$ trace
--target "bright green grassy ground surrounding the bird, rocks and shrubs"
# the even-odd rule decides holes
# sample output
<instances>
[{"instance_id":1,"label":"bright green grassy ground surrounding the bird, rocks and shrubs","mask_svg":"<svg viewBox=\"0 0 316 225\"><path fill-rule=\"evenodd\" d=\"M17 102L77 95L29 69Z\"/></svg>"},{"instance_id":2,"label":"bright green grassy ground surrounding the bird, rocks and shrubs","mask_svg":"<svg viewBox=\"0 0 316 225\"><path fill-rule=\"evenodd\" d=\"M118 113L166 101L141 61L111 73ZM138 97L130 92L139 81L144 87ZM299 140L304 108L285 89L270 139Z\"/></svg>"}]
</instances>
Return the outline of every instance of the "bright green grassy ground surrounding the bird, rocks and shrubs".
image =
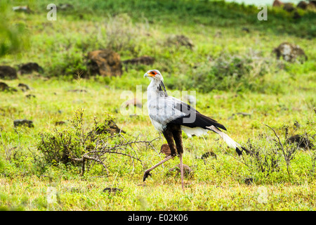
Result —
<instances>
[{"instance_id":1,"label":"bright green grassy ground surrounding the bird, rocks and shrubs","mask_svg":"<svg viewBox=\"0 0 316 225\"><path fill-rule=\"evenodd\" d=\"M303 16L296 21L290 13L269 8L268 21L259 22L256 7L235 4L73 1L73 9L48 21L45 1L21 4L29 4L34 13L9 12L8 18L27 27L29 46L1 58L1 65L37 62L44 72L3 81L31 89L0 93L1 210L315 210L315 149L297 149L287 167L280 149L273 155L276 137L264 125L275 129L282 143L288 127L289 134L306 133L315 145L315 13L300 11ZM171 34L190 37L194 48L167 45ZM301 46L308 60L303 64L275 60L271 51L282 41ZM86 70L86 53L103 48L119 52L122 60L143 55L156 60L150 67L129 65L121 77L73 79L78 70ZM163 157L143 145L135 148L141 163L131 165L124 156L105 162L109 176L97 165L81 176L81 167L41 160L39 134L67 130L70 122L62 126L55 122L69 120L79 108L84 108L85 127L92 126L93 117L102 119L110 113L126 131L126 139L157 138L145 113L129 116L120 110L126 101L122 93L136 94L137 85L145 91L149 81L143 74L152 68L162 72L170 94L179 89L196 91L197 110L224 124L239 143L258 147L268 159L265 172L251 156L238 158L215 134L205 139L184 135L184 163L194 172L185 178L185 192L180 176L168 172L178 159L155 169L143 184L145 169ZM212 77L214 68L228 79ZM74 89L86 92L70 91ZM36 98L25 98L27 94ZM144 105L145 98L143 93ZM24 118L33 120L34 127L13 127L13 120ZM162 143L164 139L152 142L157 150ZM204 162L200 158L209 150L217 157ZM268 173L276 159L279 167ZM122 191L103 192L107 187ZM48 200L50 188L53 203Z\"/></svg>"}]
</instances>

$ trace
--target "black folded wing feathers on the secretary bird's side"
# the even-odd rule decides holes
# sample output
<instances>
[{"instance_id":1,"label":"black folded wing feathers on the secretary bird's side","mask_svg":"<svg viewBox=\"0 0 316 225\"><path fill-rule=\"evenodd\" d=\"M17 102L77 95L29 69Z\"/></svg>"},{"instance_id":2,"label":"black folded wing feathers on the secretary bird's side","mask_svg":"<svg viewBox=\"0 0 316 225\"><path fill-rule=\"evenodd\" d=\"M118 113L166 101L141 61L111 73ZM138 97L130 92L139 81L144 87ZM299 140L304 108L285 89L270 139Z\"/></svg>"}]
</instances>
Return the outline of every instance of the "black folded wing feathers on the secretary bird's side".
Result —
<instances>
[{"instance_id":1,"label":"black folded wing feathers on the secretary bird's side","mask_svg":"<svg viewBox=\"0 0 316 225\"><path fill-rule=\"evenodd\" d=\"M195 110L195 108L187 105L186 103L182 102L176 104L176 109L185 113L185 116L178 117L176 120L172 120L171 123L173 124L180 124L186 127L202 127L203 129L208 129L207 127L213 125L218 129L226 130L223 124L218 123L216 120L213 120L210 117L206 117L206 115L199 113L197 110ZM192 113L195 113L195 120L193 122L186 122L184 119L191 117Z\"/></svg>"}]
</instances>

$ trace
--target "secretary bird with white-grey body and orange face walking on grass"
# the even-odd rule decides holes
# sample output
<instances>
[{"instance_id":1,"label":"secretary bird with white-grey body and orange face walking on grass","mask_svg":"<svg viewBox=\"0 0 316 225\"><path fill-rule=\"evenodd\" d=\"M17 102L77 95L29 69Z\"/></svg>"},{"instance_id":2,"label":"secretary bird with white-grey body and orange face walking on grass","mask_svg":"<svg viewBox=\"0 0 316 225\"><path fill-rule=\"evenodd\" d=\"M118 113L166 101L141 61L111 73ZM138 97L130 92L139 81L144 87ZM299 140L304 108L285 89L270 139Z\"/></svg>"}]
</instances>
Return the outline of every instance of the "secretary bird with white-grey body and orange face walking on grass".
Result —
<instances>
[{"instance_id":1,"label":"secretary bird with white-grey body and orange face walking on grass","mask_svg":"<svg viewBox=\"0 0 316 225\"><path fill-rule=\"evenodd\" d=\"M174 158L177 153L180 159L181 185L184 190L183 183L183 143L182 131L185 131L188 137L192 135L200 136L206 134L207 131L213 131L219 134L230 148L234 148L238 155L242 155L242 150L246 150L239 143L235 142L227 134L220 131L226 128L216 120L206 117L192 108L187 103L177 98L168 96L164 79L159 70L148 70L144 77L150 79L147 87L147 107L152 125L157 131L162 131L171 150L171 155L157 163L150 169L147 169L143 176L143 181L150 176L152 169L162 165L162 163ZM174 142L173 142L174 140ZM247 150L246 150L247 151Z\"/></svg>"}]
</instances>

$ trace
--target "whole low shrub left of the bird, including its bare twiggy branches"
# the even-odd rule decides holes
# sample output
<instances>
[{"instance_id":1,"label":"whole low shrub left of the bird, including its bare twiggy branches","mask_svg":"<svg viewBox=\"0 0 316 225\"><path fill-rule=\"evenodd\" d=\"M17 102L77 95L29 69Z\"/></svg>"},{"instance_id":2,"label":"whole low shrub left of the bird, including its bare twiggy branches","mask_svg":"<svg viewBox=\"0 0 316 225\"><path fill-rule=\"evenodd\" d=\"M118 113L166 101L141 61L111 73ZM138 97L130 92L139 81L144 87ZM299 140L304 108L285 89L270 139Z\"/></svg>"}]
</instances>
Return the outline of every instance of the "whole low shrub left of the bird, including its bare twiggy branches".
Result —
<instances>
[{"instance_id":1,"label":"whole low shrub left of the bird, including its bare twiggy branches","mask_svg":"<svg viewBox=\"0 0 316 225\"><path fill-rule=\"evenodd\" d=\"M151 146L151 141L125 139L122 135L125 132L117 127L114 118L110 115L105 115L103 122L94 118L93 126L86 129L84 110L77 110L70 124L65 129L55 129L52 133L40 134L41 139L37 143L37 149L43 153L46 164L81 166L81 174L84 174L86 168L97 174L105 170L108 175L109 168L112 171L118 169L116 165L122 160L119 157L122 157L127 160L119 162L119 165L126 167L119 167L117 172L130 173L129 168L133 167L134 170L135 162L141 162L133 145L143 143Z\"/></svg>"}]
</instances>

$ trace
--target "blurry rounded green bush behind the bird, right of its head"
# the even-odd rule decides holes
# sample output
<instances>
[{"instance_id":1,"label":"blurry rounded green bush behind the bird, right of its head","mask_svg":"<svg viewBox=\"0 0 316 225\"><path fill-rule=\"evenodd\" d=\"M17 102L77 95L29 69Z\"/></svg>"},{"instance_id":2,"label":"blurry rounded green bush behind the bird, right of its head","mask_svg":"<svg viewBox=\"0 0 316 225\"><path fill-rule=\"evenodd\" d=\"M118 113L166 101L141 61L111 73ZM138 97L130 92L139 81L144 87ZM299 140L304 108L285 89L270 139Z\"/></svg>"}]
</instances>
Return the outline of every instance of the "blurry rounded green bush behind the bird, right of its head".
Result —
<instances>
[{"instance_id":1,"label":"blurry rounded green bush behind the bird, right of its head","mask_svg":"<svg viewBox=\"0 0 316 225\"><path fill-rule=\"evenodd\" d=\"M268 72L265 60L240 56L221 56L213 62L204 62L192 70L192 75L182 76L173 84L176 89L197 89L209 92L213 89L258 91ZM178 85L177 85L178 84ZM168 84L167 84L168 85Z\"/></svg>"}]
</instances>

